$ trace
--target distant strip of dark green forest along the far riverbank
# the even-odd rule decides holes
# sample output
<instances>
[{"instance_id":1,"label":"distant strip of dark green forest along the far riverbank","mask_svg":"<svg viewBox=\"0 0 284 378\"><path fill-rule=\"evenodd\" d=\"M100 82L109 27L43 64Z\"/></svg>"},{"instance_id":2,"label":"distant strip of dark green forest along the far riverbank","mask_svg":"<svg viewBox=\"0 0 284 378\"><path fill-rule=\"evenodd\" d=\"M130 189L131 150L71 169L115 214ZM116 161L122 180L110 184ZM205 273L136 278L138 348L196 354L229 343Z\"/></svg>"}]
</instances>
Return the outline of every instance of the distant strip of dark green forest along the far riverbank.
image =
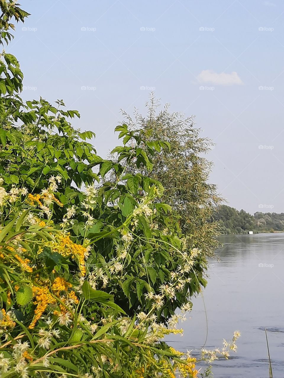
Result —
<instances>
[{"instance_id":1,"label":"distant strip of dark green forest along the far riverbank","mask_svg":"<svg viewBox=\"0 0 284 378\"><path fill-rule=\"evenodd\" d=\"M263 213L257 211L254 215L244 210L236 210L227 205L220 206L214 219L218 220L222 234L247 234L254 232L284 231L284 213Z\"/></svg>"}]
</instances>

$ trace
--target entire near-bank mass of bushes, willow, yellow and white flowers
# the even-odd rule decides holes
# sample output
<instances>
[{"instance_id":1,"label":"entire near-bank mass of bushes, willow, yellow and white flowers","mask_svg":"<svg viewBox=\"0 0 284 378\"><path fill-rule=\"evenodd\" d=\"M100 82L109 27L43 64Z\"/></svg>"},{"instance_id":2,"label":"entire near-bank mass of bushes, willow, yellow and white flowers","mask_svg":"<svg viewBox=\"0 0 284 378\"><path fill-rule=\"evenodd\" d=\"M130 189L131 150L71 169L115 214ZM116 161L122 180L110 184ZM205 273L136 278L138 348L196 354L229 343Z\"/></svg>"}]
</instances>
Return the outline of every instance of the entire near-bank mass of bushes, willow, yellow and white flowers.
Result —
<instances>
[{"instance_id":1,"label":"entire near-bank mass of bushes, willow, yellow and white flowers","mask_svg":"<svg viewBox=\"0 0 284 378\"><path fill-rule=\"evenodd\" d=\"M0 8L3 44L28 14ZM62 100L23 102L5 51L0 74L0 376L193 378L197 362L228 358L238 331L199 359L163 340L182 333L217 245L208 141L151 113L118 125L122 145L103 159Z\"/></svg>"}]
</instances>

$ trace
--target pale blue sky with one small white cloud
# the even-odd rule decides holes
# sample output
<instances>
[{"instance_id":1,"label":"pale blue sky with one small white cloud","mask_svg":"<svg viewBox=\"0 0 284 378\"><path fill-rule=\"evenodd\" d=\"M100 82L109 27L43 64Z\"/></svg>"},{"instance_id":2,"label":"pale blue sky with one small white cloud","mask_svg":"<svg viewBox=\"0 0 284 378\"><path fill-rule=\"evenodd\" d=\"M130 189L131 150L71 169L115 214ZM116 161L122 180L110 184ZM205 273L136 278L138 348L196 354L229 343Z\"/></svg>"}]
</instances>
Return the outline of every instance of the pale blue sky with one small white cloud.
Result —
<instances>
[{"instance_id":1,"label":"pale blue sky with one small white cloud","mask_svg":"<svg viewBox=\"0 0 284 378\"><path fill-rule=\"evenodd\" d=\"M6 51L20 62L24 99L64 99L106 156L120 109L145 114L153 90L216 144L210 182L230 206L284 212L284 2L21 4L31 16Z\"/></svg>"}]
</instances>

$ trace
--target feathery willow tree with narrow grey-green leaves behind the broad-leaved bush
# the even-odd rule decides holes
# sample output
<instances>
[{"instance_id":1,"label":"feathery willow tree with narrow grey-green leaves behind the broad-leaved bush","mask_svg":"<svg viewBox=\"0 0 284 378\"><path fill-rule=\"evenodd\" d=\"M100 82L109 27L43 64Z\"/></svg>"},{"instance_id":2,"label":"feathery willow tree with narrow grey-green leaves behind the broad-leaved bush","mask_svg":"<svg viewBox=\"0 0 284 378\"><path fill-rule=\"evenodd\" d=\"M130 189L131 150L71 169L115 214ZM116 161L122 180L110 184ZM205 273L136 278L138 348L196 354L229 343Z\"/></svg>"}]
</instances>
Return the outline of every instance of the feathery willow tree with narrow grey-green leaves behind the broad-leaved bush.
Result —
<instances>
[{"instance_id":1,"label":"feathery willow tree with narrow grey-green leaves behind the broad-leaved bush","mask_svg":"<svg viewBox=\"0 0 284 378\"><path fill-rule=\"evenodd\" d=\"M179 224L188 247L202 250L204 256L213 256L218 246L218 223L212 220L222 198L216 185L208 182L212 163L205 155L214 144L200 136L194 116L185 118L179 112L170 113L169 104L161 109L153 94L146 106L146 118L134 112L133 119L122 112L129 127L145 131L147 141L142 148L150 148L152 154L151 170L145 172L139 161L130 170L162 183L161 201L172 207L172 222ZM157 148L157 139L167 142L169 148Z\"/></svg>"}]
</instances>

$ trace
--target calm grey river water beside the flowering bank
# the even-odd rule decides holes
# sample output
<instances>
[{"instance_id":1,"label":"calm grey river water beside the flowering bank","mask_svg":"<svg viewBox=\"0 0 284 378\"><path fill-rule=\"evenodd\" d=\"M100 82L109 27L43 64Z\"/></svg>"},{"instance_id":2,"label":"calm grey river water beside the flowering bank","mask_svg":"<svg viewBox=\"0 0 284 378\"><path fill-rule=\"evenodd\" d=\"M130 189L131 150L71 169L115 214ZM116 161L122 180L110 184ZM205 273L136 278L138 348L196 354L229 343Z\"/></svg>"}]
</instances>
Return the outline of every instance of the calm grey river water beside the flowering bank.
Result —
<instances>
[{"instance_id":1,"label":"calm grey river water beside the flowering bank","mask_svg":"<svg viewBox=\"0 0 284 378\"><path fill-rule=\"evenodd\" d=\"M213 364L215 378L269 378L265 328L273 378L284 377L284 233L223 235L220 262L210 261L208 286L193 300L181 324L183 336L167 341L178 350L222 347L234 330L242 336L237 353ZM204 309L206 308L206 312Z\"/></svg>"}]
</instances>

